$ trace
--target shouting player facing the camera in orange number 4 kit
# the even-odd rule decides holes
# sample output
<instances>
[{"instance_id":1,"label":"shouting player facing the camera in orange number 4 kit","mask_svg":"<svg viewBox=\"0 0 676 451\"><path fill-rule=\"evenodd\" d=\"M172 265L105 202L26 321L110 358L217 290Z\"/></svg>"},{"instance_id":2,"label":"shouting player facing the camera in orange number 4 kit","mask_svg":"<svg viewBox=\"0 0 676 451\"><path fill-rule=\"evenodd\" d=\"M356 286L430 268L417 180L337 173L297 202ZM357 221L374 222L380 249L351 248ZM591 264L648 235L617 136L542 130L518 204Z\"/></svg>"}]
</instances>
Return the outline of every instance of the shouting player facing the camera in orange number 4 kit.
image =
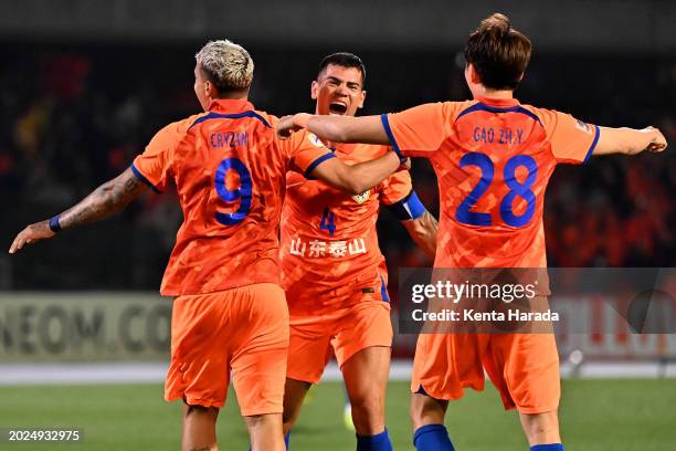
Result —
<instances>
[{"instance_id":1,"label":"shouting player facing the camera in orange number 4 kit","mask_svg":"<svg viewBox=\"0 0 676 451\"><path fill-rule=\"evenodd\" d=\"M316 114L353 116L366 98L365 81L358 56L326 56L310 87ZM348 164L389 151L387 146L325 144ZM392 325L376 221L385 206L433 259L436 220L418 199L405 169L358 196L298 172L286 180L281 223L282 282L291 314L285 434L335 352L352 406L357 449L391 450L384 397Z\"/></svg>"}]
</instances>

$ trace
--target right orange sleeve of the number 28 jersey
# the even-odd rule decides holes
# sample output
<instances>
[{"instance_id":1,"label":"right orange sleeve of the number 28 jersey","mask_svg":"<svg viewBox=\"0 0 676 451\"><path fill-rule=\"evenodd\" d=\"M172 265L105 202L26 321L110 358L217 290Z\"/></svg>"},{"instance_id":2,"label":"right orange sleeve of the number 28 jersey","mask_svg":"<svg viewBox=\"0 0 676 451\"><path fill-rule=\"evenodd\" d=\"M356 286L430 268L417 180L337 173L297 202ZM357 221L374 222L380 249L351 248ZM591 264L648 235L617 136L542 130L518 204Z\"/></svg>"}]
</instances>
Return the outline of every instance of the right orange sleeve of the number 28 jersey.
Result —
<instances>
[{"instance_id":1,"label":"right orange sleeve of the number 28 jersey","mask_svg":"<svg viewBox=\"0 0 676 451\"><path fill-rule=\"evenodd\" d=\"M573 165L587 162L599 143L599 126L557 111L540 109L539 113L557 161Z\"/></svg>"}]
</instances>

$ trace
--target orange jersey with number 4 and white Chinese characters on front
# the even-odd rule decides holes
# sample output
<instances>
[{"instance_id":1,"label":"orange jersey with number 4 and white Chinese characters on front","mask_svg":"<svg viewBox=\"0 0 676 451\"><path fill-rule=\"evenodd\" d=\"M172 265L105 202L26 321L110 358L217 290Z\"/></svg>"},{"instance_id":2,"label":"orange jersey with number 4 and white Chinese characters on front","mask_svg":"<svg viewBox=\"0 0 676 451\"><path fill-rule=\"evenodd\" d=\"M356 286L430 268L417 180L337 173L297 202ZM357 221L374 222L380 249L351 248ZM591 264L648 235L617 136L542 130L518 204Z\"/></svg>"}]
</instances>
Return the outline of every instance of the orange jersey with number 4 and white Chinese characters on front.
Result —
<instances>
[{"instance_id":1,"label":"orange jersey with number 4 and white Chinese characters on front","mask_svg":"<svg viewBox=\"0 0 676 451\"><path fill-rule=\"evenodd\" d=\"M385 146L338 144L346 164L384 155ZM380 204L392 206L412 195L411 176L398 170L359 196L289 172L282 211L282 277L292 311L353 302L365 290L388 300L387 269L378 245ZM413 193L414 195L414 193ZM346 301L346 298L348 301ZM303 304L303 305L300 305Z\"/></svg>"}]
</instances>

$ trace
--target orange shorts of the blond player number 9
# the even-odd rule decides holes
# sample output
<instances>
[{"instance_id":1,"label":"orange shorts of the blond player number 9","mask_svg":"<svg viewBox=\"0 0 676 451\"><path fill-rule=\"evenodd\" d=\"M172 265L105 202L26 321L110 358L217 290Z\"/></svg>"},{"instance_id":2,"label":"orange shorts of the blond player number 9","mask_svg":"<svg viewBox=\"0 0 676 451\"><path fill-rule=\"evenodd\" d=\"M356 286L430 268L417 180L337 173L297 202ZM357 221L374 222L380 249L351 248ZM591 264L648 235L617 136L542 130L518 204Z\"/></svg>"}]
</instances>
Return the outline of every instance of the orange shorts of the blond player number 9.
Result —
<instances>
[{"instance_id":1,"label":"orange shorts of the blond player number 9","mask_svg":"<svg viewBox=\"0 0 676 451\"><path fill-rule=\"evenodd\" d=\"M179 296L165 399L223 407L232 374L243 416L281 413L287 350L288 310L279 286Z\"/></svg>"}]
</instances>

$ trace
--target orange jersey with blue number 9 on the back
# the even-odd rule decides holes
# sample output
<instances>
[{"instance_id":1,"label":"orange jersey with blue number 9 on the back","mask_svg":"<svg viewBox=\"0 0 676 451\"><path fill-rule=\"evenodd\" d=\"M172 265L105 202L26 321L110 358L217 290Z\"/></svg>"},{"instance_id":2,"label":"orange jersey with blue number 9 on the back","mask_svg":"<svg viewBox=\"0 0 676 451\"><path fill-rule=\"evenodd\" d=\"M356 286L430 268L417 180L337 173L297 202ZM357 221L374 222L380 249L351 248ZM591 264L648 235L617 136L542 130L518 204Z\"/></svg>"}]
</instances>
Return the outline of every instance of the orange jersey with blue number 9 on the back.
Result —
<instances>
[{"instance_id":1,"label":"orange jersey with blue number 9 on the back","mask_svg":"<svg viewBox=\"0 0 676 451\"><path fill-rule=\"evenodd\" d=\"M161 285L163 295L279 284L278 227L288 170L332 158L306 133L276 137L276 117L245 99L169 124L131 169L154 190L176 181L183 223Z\"/></svg>"}]
</instances>

